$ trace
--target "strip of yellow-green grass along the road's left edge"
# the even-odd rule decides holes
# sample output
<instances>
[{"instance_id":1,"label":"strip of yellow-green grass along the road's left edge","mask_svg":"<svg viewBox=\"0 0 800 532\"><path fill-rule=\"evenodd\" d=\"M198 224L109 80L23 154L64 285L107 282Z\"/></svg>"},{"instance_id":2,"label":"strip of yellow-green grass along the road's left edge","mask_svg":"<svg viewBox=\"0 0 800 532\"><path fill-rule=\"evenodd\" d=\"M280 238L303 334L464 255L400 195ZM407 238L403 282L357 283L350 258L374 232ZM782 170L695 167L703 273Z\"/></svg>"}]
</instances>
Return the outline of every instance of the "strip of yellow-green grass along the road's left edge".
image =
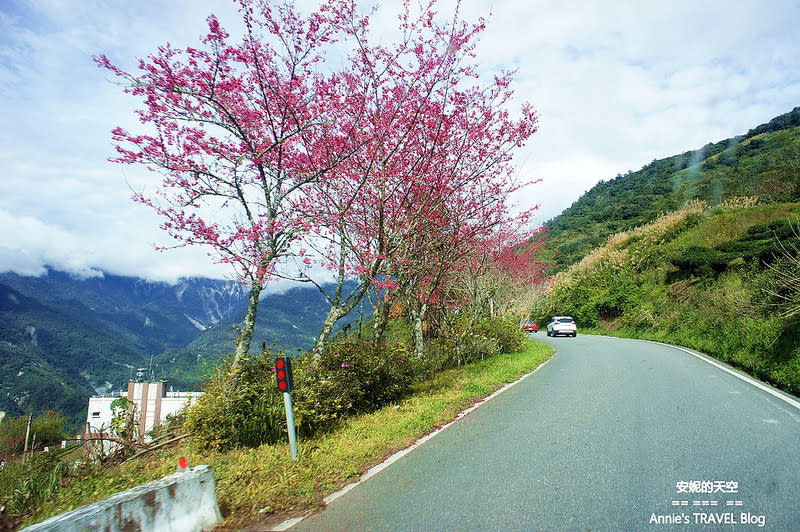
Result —
<instances>
[{"instance_id":1,"label":"strip of yellow-green grass along the road's left edge","mask_svg":"<svg viewBox=\"0 0 800 532\"><path fill-rule=\"evenodd\" d=\"M298 443L209 453L190 442L120 467L82 476L43 505L26 524L103 499L175 471L179 456L214 469L224 526L275 523L322 506L322 499L371 466L403 449L506 383L534 370L552 349L529 341L524 351L450 369L418 384L406 399L377 412L345 419L335 430Z\"/></svg>"}]
</instances>

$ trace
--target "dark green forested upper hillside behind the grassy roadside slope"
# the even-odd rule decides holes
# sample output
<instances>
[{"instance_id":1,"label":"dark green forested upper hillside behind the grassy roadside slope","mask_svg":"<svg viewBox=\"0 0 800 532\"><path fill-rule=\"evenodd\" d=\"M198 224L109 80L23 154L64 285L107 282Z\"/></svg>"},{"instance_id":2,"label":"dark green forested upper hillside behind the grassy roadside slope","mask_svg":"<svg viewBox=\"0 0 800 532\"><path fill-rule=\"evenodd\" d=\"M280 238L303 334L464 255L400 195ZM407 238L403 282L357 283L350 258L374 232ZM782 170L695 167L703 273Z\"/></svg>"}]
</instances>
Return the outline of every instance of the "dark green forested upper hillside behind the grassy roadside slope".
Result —
<instances>
[{"instance_id":1,"label":"dark green forested upper hillside behind the grassy roadside slope","mask_svg":"<svg viewBox=\"0 0 800 532\"><path fill-rule=\"evenodd\" d=\"M689 200L717 205L743 196L758 196L762 203L800 200L800 107L744 135L599 183L546 224L546 247L563 269L609 235L651 222Z\"/></svg>"}]
</instances>

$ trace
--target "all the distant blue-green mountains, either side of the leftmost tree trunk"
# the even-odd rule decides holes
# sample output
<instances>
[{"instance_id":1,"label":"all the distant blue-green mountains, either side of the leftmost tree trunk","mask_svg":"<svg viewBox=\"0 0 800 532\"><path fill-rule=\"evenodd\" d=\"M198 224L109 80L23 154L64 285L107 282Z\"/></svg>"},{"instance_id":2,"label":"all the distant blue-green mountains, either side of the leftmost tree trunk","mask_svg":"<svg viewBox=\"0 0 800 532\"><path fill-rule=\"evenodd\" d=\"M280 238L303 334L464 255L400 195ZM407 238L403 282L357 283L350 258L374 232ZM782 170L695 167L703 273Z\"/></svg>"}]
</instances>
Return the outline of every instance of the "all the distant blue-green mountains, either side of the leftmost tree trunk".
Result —
<instances>
[{"instance_id":1,"label":"all the distant blue-green mountains, either side of the leftmost tree trunk","mask_svg":"<svg viewBox=\"0 0 800 532\"><path fill-rule=\"evenodd\" d=\"M247 287L214 279L0 274L0 411L52 409L77 427L88 397L123 388L137 367L196 389L233 351L247 299ZM309 348L326 313L314 287L262 297L253 350Z\"/></svg>"}]
</instances>

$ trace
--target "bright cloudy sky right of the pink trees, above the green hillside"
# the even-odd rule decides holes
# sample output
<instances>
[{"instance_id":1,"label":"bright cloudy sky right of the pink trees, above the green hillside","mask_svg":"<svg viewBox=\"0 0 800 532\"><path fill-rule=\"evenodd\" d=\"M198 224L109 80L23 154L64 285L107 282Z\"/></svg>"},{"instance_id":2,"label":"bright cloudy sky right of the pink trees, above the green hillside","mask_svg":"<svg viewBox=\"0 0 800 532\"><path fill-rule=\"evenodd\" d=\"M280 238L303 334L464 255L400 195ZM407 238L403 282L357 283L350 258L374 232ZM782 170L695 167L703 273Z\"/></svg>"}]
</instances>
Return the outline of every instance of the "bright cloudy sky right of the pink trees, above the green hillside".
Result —
<instances>
[{"instance_id":1,"label":"bright cloudy sky right of the pink trees, above the green hillside","mask_svg":"<svg viewBox=\"0 0 800 532\"><path fill-rule=\"evenodd\" d=\"M800 103L796 3L505 5L495 4L480 53L489 68L511 60L519 97L540 113L524 160L544 180L530 202L547 215L600 179Z\"/></svg>"}]
</instances>

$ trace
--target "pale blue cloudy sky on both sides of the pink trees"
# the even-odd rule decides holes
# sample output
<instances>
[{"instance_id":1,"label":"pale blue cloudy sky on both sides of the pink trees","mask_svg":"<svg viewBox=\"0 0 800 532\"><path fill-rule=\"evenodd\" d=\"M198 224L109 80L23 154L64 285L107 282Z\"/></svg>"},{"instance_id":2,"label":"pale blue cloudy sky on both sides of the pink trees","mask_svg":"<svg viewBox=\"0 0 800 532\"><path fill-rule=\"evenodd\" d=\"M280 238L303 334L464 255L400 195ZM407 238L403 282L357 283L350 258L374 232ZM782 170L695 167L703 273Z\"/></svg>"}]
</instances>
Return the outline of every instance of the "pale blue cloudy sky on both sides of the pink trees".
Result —
<instances>
[{"instance_id":1,"label":"pale blue cloudy sky on both sides of the pink trees","mask_svg":"<svg viewBox=\"0 0 800 532\"><path fill-rule=\"evenodd\" d=\"M154 251L169 241L130 195L160 177L107 162L137 102L91 60L132 70L166 42L196 45L212 12L238 27L227 0L0 0L0 271L229 275L202 249ZM800 105L798 1L462 5L467 19L490 12L481 69L517 69L517 96L540 115L516 161L520 179L542 180L516 198L540 205L539 223L600 180ZM377 27L392 23L379 12Z\"/></svg>"}]
</instances>

